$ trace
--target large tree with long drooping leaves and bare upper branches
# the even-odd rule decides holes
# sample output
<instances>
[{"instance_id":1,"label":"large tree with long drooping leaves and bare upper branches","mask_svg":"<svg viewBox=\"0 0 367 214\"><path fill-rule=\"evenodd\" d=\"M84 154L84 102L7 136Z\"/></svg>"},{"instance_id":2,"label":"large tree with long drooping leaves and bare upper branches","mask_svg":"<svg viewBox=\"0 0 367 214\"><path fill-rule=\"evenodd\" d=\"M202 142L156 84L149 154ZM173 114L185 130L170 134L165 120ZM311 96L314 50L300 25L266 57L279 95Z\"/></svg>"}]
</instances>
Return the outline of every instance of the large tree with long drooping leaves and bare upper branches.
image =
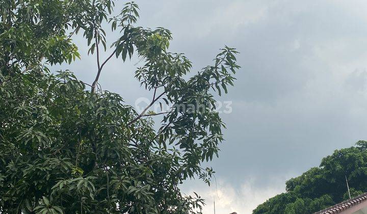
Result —
<instances>
[{"instance_id":1,"label":"large tree with long drooping leaves and bare upper branches","mask_svg":"<svg viewBox=\"0 0 367 214\"><path fill-rule=\"evenodd\" d=\"M213 93L233 85L238 52L226 46L213 65L186 77L192 64L168 51L171 33L136 26L134 2L117 16L114 5L0 1L0 212L200 212L204 200L183 195L179 184L195 177L209 183L215 173L201 167L218 156L223 141ZM106 23L120 32L111 48ZM72 42L78 32L96 56L90 85L48 67L79 58ZM102 50L111 53L107 59ZM141 113L98 87L112 57L125 61L134 52L144 60L135 77L153 94ZM148 112L159 102L172 108ZM158 130L154 116L162 119Z\"/></svg>"}]
</instances>

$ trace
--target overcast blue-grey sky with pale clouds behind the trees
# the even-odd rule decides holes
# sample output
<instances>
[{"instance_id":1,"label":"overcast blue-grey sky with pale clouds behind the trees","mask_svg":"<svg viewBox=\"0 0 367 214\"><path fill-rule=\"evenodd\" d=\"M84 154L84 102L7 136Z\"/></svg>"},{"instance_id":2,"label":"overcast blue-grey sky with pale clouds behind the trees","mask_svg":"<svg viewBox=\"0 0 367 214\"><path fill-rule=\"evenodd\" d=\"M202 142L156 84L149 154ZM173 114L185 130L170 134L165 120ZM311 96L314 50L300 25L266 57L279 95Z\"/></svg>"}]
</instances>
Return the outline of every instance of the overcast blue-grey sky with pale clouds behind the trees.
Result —
<instances>
[{"instance_id":1,"label":"overcast blue-grey sky with pale clouds behind the trees","mask_svg":"<svg viewBox=\"0 0 367 214\"><path fill-rule=\"evenodd\" d=\"M214 213L214 196L217 213L251 213L284 192L287 179L367 139L366 1L136 2L138 25L171 30L170 51L186 53L193 71L211 64L224 45L241 52L238 81L219 98L232 101L232 113L221 114L226 141L211 164L219 198L215 185L183 186L207 199L205 214ZM91 83L94 56L87 57L85 40L75 42L82 60L62 68ZM101 74L102 89L130 104L151 97L134 79L138 61L111 61Z\"/></svg>"}]
</instances>

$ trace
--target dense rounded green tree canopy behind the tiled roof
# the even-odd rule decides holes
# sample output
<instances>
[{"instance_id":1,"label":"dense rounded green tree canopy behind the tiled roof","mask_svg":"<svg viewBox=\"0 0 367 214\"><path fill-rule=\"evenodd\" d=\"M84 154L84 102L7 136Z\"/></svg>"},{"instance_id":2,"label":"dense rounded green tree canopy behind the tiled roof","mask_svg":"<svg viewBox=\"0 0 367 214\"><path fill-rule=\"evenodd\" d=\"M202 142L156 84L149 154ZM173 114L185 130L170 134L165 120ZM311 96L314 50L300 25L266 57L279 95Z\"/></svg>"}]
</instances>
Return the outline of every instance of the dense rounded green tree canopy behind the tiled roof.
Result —
<instances>
[{"instance_id":1,"label":"dense rounded green tree canopy behind the tiled roof","mask_svg":"<svg viewBox=\"0 0 367 214\"><path fill-rule=\"evenodd\" d=\"M367 141L335 150L301 176L286 181L286 193L257 206L253 213L313 213L367 192Z\"/></svg>"}]
</instances>

